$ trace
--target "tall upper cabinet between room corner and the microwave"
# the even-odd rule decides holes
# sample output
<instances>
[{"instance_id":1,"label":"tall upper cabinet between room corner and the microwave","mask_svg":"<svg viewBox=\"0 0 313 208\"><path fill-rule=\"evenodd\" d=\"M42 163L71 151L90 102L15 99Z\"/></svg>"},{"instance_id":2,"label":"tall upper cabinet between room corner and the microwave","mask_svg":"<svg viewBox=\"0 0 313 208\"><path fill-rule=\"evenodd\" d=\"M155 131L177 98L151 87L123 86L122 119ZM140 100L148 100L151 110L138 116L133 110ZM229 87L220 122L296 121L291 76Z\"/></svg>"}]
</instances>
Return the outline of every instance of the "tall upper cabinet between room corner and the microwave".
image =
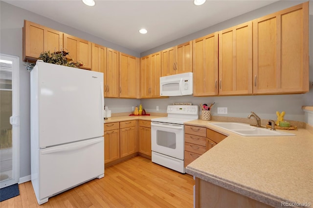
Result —
<instances>
[{"instance_id":1,"label":"tall upper cabinet between room corner and the microwave","mask_svg":"<svg viewBox=\"0 0 313 208\"><path fill-rule=\"evenodd\" d=\"M161 52L141 58L141 98L160 98Z\"/></svg>"}]
</instances>

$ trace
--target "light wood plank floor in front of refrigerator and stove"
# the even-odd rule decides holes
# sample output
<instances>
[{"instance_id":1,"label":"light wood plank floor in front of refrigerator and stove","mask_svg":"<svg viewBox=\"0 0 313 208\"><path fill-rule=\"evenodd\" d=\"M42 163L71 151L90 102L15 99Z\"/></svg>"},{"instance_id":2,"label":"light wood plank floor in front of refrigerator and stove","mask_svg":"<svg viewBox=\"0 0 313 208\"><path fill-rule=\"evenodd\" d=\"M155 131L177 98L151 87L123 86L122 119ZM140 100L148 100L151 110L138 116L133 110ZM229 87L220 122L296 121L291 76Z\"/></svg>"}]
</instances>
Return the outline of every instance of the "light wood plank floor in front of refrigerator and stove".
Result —
<instances>
[{"instance_id":1,"label":"light wood plank floor in front of refrigerator and stove","mask_svg":"<svg viewBox=\"0 0 313 208\"><path fill-rule=\"evenodd\" d=\"M192 208L193 177L137 156L105 168L105 177L49 198L39 206L31 182L0 208Z\"/></svg>"}]
</instances>

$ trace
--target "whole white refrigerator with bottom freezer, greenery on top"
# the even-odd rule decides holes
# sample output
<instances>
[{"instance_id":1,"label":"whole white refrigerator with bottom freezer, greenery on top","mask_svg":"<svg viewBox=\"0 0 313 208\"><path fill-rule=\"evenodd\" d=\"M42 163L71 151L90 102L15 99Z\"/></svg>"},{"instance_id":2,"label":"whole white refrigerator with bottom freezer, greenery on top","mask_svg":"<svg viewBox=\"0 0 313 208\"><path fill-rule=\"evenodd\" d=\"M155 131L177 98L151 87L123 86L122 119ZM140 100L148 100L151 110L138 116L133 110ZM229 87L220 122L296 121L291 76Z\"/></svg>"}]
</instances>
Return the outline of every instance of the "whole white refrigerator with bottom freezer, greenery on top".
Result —
<instances>
[{"instance_id":1,"label":"whole white refrigerator with bottom freezer, greenery on top","mask_svg":"<svg viewBox=\"0 0 313 208\"><path fill-rule=\"evenodd\" d=\"M31 182L41 205L104 176L103 73L40 60L30 78Z\"/></svg>"}]
</instances>

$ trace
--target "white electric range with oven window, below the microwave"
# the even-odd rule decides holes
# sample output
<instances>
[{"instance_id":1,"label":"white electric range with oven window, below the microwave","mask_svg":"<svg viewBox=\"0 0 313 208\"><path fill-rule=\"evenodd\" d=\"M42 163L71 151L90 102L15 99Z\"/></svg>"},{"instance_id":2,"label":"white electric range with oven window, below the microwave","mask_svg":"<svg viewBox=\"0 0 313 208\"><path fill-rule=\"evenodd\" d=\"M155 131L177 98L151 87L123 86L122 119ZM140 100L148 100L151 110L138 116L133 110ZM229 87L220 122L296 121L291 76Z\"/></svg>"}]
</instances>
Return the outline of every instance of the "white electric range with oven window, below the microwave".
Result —
<instances>
[{"instance_id":1,"label":"white electric range with oven window, below the microwave","mask_svg":"<svg viewBox=\"0 0 313 208\"><path fill-rule=\"evenodd\" d=\"M198 105L168 105L167 117L151 119L152 162L185 173L184 122L198 118Z\"/></svg>"}]
</instances>

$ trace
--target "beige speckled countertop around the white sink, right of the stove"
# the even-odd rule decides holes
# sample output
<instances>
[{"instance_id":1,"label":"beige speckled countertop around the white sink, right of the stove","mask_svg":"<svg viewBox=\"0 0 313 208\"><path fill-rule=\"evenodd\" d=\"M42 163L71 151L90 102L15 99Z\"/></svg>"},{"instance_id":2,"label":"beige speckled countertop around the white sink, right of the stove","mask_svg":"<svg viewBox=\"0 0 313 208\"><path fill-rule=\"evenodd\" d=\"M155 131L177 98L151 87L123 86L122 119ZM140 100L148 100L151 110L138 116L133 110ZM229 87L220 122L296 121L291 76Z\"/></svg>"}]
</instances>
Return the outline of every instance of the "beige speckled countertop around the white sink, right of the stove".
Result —
<instances>
[{"instance_id":1,"label":"beige speckled countertop around the white sink, right of the stove","mask_svg":"<svg viewBox=\"0 0 313 208\"><path fill-rule=\"evenodd\" d=\"M292 130L296 136L243 137L210 122L185 123L228 136L189 164L188 174L273 207L281 207L281 202L313 206L311 130Z\"/></svg>"}]
</instances>

